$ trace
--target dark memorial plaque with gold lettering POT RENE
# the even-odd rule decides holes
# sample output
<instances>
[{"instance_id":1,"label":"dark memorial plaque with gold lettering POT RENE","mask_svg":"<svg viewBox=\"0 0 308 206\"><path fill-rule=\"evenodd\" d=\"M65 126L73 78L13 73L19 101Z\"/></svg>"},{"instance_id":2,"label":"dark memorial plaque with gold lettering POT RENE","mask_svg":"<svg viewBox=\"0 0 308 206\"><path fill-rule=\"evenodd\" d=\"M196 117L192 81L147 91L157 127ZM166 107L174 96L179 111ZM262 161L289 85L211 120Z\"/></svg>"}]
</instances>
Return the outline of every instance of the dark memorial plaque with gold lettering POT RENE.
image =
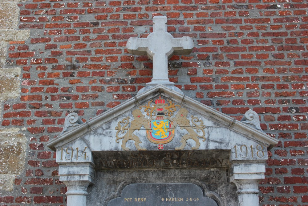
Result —
<instances>
[{"instance_id":1,"label":"dark memorial plaque with gold lettering POT RENE","mask_svg":"<svg viewBox=\"0 0 308 206\"><path fill-rule=\"evenodd\" d=\"M130 184L107 206L218 206L192 183Z\"/></svg>"}]
</instances>

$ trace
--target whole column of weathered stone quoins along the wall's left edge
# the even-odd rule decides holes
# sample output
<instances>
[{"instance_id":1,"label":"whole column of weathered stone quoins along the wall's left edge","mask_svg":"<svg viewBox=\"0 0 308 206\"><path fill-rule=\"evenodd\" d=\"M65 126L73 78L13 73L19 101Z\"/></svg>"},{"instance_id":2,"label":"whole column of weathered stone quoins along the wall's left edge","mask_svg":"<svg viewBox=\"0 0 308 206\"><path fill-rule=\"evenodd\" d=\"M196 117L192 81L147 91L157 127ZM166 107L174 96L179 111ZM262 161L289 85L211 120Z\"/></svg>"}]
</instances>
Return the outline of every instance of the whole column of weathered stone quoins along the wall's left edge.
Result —
<instances>
[{"instance_id":1,"label":"whole column of weathered stone quoins along the wall's left edge","mask_svg":"<svg viewBox=\"0 0 308 206\"><path fill-rule=\"evenodd\" d=\"M18 2L23 0L0 1L0 116L3 107L1 104L8 99L16 99L20 95L20 67L6 65L9 42L29 39L30 30L19 30ZM13 191L14 179L24 170L26 159L26 136L20 128L0 129L0 190Z\"/></svg>"}]
</instances>

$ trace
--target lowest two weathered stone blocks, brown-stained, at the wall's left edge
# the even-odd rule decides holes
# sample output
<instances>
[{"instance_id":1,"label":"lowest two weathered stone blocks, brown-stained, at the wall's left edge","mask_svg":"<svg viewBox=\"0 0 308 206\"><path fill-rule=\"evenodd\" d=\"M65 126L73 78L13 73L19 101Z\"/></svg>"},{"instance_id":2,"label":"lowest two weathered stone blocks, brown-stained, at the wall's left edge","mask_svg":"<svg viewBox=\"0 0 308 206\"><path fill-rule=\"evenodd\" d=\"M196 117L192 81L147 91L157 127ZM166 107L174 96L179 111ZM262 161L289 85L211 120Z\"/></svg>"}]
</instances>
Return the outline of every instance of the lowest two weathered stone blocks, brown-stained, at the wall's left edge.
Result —
<instances>
[{"instance_id":1,"label":"lowest two weathered stone blocks, brown-stained, at the wall's left edge","mask_svg":"<svg viewBox=\"0 0 308 206\"><path fill-rule=\"evenodd\" d=\"M25 135L17 129L1 129L0 157L0 190L12 191L15 177L24 170Z\"/></svg>"}]
</instances>

